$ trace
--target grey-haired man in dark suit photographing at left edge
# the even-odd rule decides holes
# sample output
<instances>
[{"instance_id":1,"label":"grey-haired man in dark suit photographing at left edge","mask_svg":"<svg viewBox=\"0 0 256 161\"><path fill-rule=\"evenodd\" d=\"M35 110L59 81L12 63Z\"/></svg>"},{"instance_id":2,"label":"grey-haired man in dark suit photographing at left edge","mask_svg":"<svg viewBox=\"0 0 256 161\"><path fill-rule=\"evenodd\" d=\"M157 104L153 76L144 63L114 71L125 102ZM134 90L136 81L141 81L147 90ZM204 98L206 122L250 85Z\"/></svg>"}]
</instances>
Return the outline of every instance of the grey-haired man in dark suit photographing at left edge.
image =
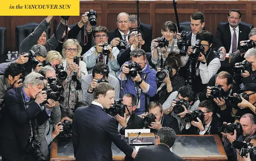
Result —
<instances>
[{"instance_id":1,"label":"grey-haired man in dark suit photographing at left edge","mask_svg":"<svg viewBox=\"0 0 256 161\"><path fill-rule=\"evenodd\" d=\"M5 105L0 120L0 155L3 161L37 161L32 147L32 142L38 137L35 126L45 123L51 113L39 105L47 100L46 92L42 91L45 86L47 81L44 77L31 72L23 86L10 89L3 97Z\"/></svg>"}]
</instances>

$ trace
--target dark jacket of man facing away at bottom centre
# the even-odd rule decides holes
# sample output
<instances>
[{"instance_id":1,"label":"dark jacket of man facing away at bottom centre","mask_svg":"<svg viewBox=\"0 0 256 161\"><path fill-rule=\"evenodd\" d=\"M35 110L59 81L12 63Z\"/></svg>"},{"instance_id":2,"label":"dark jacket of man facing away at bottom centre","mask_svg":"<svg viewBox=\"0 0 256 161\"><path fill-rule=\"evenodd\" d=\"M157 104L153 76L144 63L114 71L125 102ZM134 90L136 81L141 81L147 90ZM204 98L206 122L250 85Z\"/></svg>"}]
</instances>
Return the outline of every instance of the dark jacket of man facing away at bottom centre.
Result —
<instances>
[{"instance_id":1,"label":"dark jacket of man facing away at bottom centre","mask_svg":"<svg viewBox=\"0 0 256 161\"><path fill-rule=\"evenodd\" d=\"M134 161L185 161L183 158L170 151L165 144L141 147Z\"/></svg>"}]
</instances>

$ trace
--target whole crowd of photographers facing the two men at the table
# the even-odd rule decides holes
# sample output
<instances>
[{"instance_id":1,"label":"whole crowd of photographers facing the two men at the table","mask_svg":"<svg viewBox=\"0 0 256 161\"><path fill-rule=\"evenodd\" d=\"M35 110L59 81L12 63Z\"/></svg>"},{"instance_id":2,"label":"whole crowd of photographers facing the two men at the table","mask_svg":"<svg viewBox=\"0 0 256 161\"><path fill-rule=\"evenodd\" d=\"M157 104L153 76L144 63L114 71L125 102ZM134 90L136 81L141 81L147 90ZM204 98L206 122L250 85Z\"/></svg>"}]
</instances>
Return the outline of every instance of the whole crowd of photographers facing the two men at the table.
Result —
<instances>
[{"instance_id":1,"label":"whole crowd of photographers facing the two men at the table","mask_svg":"<svg viewBox=\"0 0 256 161\"><path fill-rule=\"evenodd\" d=\"M166 21L162 37L153 40L135 15L118 14L118 28L110 32L97 26L93 10L69 32L68 17L62 18L47 40L52 16L46 17L22 41L17 58L0 64L3 161L49 160L53 139L72 137L73 113L96 99L101 82L114 87L115 101L106 112L120 134L142 128L157 134L162 127L176 134L219 134L228 160L255 160L256 28L247 33L249 40L237 42L239 10L228 13L230 41L238 44L235 52L229 44L233 73L219 71L227 55L225 43L219 44L225 34L220 28L215 37L203 31L201 12L190 16L192 31L179 33ZM75 39L80 30L87 43Z\"/></svg>"}]
</instances>

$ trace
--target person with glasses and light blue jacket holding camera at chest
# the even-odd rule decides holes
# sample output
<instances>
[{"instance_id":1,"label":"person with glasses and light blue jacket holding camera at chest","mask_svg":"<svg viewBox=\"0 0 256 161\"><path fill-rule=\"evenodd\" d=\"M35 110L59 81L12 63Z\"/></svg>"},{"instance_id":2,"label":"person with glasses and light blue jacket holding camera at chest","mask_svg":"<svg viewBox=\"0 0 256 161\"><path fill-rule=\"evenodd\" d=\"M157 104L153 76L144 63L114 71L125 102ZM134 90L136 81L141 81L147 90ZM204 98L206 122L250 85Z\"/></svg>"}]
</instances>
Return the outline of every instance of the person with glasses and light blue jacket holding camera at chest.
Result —
<instances>
[{"instance_id":1,"label":"person with glasses and light blue jacket holding camera at chest","mask_svg":"<svg viewBox=\"0 0 256 161\"><path fill-rule=\"evenodd\" d=\"M107 42L108 39L108 30L104 26L98 26L93 30L93 37L94 41L96 43L96 46L93 46L90 48L89 51L87 51L83 55L83 61L86 62L87 68L92 68L94 65L96 65L98 62L104 62L109 66L110 74L117 77L118 70L120 69L120 66L117 61L117 56L119 53L119 50L117 47L111 48L111 46L107 46L107 49L109 50L109 55L106 56L103 53L103 44ZM88 72L91 72L89 70Z\"/></svg>"}]
</instances>

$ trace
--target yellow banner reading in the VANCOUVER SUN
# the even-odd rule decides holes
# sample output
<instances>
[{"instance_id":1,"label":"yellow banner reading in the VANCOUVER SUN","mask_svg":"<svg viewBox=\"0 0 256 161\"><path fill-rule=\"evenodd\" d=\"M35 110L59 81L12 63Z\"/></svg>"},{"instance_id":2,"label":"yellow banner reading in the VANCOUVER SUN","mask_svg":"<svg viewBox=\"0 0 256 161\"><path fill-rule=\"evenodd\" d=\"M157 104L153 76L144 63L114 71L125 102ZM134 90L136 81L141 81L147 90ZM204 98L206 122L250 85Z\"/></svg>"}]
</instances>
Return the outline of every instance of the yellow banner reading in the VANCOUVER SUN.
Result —
<instances>
[{"instance_id":1,"label":"yellow banner reading in the VANCOUVER SUN","mask_svg":"<svg viewBox=\"0 0 256 161\"><path fill-rule=\"evenodd\" d=\"M0 16L79 16L79 0L0 0Z\"/></svg>"}]
</instances>

